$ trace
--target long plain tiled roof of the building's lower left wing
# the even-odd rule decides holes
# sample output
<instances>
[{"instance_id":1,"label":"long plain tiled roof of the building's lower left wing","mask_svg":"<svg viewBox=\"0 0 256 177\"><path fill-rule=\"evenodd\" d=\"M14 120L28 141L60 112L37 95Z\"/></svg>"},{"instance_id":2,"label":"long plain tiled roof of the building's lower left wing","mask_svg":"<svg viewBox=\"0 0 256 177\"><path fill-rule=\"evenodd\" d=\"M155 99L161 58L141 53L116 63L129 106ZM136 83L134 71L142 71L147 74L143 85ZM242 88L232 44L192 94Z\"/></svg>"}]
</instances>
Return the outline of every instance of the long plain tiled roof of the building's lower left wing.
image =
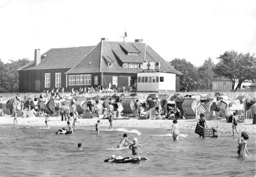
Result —
<instances>
[{"instance_id":1,"label":"long plain tiled roof of the building's lower left wing","mask_svg":"<svg viewBox=\"0 0 256 177\"><path fill-rule=\"evenodd\" d=\"M94 46L50 49L41 55L41 62L38 65L32 61L19 71L72 68L93 48Z\"/></svg>"}]
</instances>

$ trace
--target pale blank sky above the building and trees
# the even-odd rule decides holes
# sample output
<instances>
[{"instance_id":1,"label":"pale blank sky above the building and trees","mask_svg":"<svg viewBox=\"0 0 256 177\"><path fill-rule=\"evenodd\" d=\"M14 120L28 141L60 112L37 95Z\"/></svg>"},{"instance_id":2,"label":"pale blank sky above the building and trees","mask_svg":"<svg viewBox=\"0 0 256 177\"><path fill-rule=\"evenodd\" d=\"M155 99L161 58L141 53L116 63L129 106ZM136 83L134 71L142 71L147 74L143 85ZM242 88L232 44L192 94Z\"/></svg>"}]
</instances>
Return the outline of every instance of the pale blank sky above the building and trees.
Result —
<instances>
[{"instance_id":1,"label":"pale blank sky above the building and trees","mask_svg":"<svg viewBox=\"0 0 256 177\"><path fill-rule=\"evenodd\" d=\"M225 51L256 53L256 1L0 0L0 58L143 39L170 61L199 66Z\"/></svg>"}]
</instances>

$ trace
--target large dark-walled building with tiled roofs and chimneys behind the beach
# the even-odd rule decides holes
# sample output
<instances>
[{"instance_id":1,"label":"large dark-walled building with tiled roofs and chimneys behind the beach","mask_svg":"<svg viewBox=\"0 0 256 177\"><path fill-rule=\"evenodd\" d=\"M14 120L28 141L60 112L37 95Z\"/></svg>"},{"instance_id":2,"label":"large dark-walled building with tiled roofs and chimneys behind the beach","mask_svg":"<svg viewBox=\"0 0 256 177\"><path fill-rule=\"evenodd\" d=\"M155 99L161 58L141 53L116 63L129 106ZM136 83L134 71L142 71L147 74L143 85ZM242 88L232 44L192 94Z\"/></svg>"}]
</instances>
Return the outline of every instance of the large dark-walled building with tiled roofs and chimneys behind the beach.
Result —
<instances>
[{"instance_id":1,"label":"large dark-walled building with tiled roofs and chimneys behind the beach","mask_svg":"<svg viewBox=\"0 0 256 177\"><path fill-rule=\"evenodd\" d=\"M179 85L181 73L142 39L116 42L102 38L96 46L50 49L41 56L35 50L35 60L18 70L19 91L132 86L137 83L137 73L143 71L145 62L159 63L162 72L176 74Z\"/></svg>"}]
</instances>

